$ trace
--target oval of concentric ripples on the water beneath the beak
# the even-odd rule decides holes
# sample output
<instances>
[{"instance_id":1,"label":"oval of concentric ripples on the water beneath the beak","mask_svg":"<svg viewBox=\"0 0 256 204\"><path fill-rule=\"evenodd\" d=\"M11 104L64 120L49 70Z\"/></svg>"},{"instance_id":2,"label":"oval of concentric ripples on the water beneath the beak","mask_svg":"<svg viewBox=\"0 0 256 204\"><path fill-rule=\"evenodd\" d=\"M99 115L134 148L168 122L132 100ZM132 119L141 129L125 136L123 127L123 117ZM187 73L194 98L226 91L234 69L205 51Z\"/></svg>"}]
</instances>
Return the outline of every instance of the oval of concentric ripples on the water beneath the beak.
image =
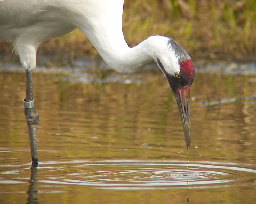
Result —
<instances>
[{"instance_id":1,"label":"oval of concentric ripples on the water beneath the beak","mask_svg":"<svg viewBox=\"0 0 256 204\"><path fill-rule=\"evenodd\" d=\"M59 167L62 173L66 170ZM73 169L74 172L70 172ZM52 171L52 170L51 170ZM254 180L254 181L253 181ZM256 180L256 170L239 164L187 164L141 161L101 161L68 167L63 178L48 177L43 183L95 186L111 189L155 189L168 186L216 186L248 184Z\"/></svg>"}]
</instances>

